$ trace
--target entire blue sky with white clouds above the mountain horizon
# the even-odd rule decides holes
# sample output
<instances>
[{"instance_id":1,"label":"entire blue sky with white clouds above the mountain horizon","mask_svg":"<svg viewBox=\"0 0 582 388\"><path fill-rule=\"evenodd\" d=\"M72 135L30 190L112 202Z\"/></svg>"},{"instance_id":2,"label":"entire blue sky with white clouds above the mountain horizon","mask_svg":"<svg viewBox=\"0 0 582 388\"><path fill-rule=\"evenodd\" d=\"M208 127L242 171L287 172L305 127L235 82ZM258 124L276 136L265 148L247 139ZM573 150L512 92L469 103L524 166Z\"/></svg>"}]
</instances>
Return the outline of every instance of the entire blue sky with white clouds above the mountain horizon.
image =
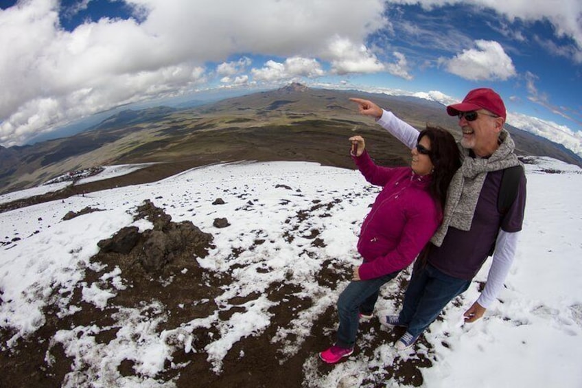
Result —
<instances>
[{"instance_id":1,"label":"entire blue sky with white clouds above the mountain horizon","mask_svg":"<svg viewBox=\"0 0 582 388\"><path fill-rule=\"evenodd\" d=\"M0 1L0 144L121 104L296 81L444 104L492 87L509 124L582 155L579 0L248 4Z\"/></svg>"}]
</instances>

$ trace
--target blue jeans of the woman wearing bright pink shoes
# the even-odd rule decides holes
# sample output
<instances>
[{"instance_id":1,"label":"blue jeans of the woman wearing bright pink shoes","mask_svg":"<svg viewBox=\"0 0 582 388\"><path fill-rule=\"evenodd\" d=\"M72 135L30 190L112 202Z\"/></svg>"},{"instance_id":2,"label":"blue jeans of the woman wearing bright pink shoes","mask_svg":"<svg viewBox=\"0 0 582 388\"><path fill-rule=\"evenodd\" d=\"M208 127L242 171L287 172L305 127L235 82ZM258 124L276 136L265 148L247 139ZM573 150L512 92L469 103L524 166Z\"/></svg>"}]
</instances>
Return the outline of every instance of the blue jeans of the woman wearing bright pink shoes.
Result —
<instances>
[{"instance_id":1,"label":"blue jeans of the woman wearing bright pink shoes","mask_svg":"<svg viewBox=\"0 0 582 388\"><path fill-rule=\"evenodd\" d=\"M340 327L338 328L337 346L351 348L356 344L360 312L371 314L374 311L380 287L394 279L399 272L388 273L388 275L375 279L358 280L347 285L338 298Z\"/></svg>"}]
</instances>

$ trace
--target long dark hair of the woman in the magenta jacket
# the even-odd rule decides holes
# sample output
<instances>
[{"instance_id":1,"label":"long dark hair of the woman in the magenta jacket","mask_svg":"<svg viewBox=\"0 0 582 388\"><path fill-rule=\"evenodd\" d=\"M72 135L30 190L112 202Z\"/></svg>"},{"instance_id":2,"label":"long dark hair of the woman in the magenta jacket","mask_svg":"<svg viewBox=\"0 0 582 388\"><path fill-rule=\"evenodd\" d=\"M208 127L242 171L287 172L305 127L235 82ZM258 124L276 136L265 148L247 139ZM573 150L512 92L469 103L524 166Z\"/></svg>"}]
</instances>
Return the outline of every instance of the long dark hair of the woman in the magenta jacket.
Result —
<instances>
[{"instance_id":1,"label":"long dark hair of the woman in the magenta jacket","mask_svg":"<svg viewBox=\"0 0 582 388\"><path fill-rule=\"evenodd\" d=\"M461 167L461 159L456 141L448 130L437 126L427 126L419 133L418 141L425 136L430 140L428 156L434 166L428 191L441 207L442 212L445 209L449 184L456 170Z\"/></svg>"}]
</instances>

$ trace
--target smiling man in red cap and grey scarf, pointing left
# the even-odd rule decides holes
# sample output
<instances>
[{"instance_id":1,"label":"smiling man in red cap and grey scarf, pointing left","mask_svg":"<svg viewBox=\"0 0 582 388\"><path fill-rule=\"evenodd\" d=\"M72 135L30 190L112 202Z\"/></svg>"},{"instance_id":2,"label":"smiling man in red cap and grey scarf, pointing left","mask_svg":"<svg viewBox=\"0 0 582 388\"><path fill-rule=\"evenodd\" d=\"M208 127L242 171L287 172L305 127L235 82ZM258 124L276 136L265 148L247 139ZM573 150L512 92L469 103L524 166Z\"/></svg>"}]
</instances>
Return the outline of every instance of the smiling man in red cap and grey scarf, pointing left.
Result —
<instances>
[{"instance_id":1,"label":"smiling man in red cap and grey scarf, pointing left","mask_svg":"<svg viewBox=\"0 0 582 388\"><path fill-rule=\"evenodd\" d=\"M373 102L351 100L359 105L360 113L375 117L408 148L415 146L415 128ZM399 315L380 312L384 326L407 328L396 343L399 349L412 346L449 301L469 288L494 246L485 288L464 315L466 322L480 319L503 286L522 229L523 170L513 205L505 214L497 207L503 170L520 165L513 140L503 129L507 113L502 99L491 89L474 89L463 102L447 106L447 113L458 116L463 139L458 144L462 166L447 192L443 224L428 244L426 260L417 260Z\"/></svg>"}]
</instances>

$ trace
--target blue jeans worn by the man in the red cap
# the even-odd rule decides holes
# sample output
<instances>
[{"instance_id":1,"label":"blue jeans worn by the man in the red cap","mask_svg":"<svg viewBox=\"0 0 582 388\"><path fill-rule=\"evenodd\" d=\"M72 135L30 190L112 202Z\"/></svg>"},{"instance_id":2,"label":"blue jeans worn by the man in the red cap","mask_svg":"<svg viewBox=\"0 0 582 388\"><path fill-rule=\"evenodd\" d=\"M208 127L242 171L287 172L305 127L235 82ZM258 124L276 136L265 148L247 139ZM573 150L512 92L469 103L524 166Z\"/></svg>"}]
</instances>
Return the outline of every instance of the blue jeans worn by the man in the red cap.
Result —
<instances>
[{"instance_id":1,"label":"blue jeans worn by the man in the red cap","mask_svg":"<svg viewBox=\"0 0 582 388\"><path fill-rule=\"evenodd\" d=\"M458 279L426 264L415 267L398 318L413 336L421 334L454 297L464 293L470 280Z\"/></svg>"}]
</instances>

